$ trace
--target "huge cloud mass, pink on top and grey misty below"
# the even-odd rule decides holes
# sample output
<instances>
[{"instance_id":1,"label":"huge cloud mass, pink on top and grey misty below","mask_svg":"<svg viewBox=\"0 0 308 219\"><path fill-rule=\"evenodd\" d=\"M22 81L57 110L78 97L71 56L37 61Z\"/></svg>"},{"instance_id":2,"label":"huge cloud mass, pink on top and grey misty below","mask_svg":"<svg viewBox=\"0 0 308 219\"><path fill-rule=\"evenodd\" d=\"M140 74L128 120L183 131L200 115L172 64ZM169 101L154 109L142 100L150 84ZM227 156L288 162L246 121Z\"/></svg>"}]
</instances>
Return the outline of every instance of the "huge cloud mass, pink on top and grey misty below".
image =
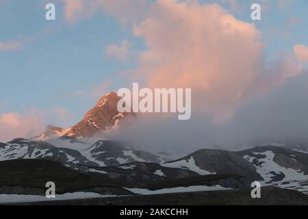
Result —
<instances>
[{"instance_id":1,"label":"huge cloud mass, pink on top and grey misty below","mask_svg":"<svg viewBox=\"0 0 308 219\"><path fill-rule=\"evenodd\" d=\"M109 138L189 152L308 136L303 47L267 60L253 23L239 21L220 5L197 1L153 3L133 34L147 49L132 81L151 88L192 88L192 119L141 116Z\"/></svg>"}]
</instances>

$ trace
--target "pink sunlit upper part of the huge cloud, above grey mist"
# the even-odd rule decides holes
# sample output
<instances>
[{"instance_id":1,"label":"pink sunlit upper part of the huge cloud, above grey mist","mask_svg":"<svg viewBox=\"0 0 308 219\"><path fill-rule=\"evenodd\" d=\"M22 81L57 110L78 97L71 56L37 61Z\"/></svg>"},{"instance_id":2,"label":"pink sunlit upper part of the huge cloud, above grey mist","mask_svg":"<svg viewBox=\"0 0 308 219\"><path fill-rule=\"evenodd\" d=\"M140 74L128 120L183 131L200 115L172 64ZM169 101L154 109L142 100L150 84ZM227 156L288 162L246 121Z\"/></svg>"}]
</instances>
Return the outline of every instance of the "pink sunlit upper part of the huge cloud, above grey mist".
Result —
<instances>
[{"instance_id":1,"label":"pink sunlit upper part of the huge cloud, above grey mist","mask_svg":"<svg viewBox=\"0 0 308 219\"><path fill-rule=\"evenodd\" d=\"M218 123L242 101L298 73L292 60L267 69L259 30L217 4L157 1L134 34L148 47L136 79L151 88L192 88L194 107Z\"/></svg>"}]
</instances>

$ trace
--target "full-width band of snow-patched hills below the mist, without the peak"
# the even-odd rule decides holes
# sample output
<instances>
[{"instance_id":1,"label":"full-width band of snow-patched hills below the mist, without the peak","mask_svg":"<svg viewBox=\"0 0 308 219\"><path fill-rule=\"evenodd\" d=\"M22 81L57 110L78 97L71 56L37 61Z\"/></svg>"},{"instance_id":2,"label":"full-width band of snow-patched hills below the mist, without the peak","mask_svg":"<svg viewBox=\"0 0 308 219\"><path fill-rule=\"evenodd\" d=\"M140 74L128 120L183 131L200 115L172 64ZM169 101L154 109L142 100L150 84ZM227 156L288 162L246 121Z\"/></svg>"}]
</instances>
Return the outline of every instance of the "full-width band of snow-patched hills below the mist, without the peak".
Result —
<instances>
[{"instance_id":1,"label":"full-width band of snow-patched hills below the mist, without the peak","mask_svg":"<svg viewBox=\"0 0 308 219\"><path fill-rule=\"evenodd\" d=\"M227 174L244 177L246 184L257 180L263 185L308 194L308 154L281 146L259 146L238 152L203 149L162 162L161 156L133 149L124 142L69 136L47 141L18 138L0 143L0 162L11 159L52 159L73 170L131 185Z\"/></svg>"}]
</instances>

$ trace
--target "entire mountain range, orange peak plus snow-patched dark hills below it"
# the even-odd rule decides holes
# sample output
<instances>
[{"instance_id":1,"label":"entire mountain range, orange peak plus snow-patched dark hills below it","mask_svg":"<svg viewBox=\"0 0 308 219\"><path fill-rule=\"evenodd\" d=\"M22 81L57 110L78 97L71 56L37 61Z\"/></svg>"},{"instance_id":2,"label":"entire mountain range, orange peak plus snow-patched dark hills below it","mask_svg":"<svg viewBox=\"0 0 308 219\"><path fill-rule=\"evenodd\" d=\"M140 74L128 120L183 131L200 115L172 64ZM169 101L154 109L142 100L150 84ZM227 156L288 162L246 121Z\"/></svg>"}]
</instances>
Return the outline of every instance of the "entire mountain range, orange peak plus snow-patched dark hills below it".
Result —
<instances>
[{"instance_id":1,"label":"entire mountain range, orange peak plus snow-patched dark hills below it","mask_svg":"<svg viewBox=\"0 0 308 219\"><path fill-rule=\"evenodd\" d=\"M201 149L181 158L142 151L97 135L136 116L118 112L119 100L113 92L106 94L68 129L50 126L34 138L0 142L0 196L42 196L45 181L60 183L63 194L243 191L253 181L308 194L306 144L266 144L243 151Z\"/></svg>"}]
</instances>

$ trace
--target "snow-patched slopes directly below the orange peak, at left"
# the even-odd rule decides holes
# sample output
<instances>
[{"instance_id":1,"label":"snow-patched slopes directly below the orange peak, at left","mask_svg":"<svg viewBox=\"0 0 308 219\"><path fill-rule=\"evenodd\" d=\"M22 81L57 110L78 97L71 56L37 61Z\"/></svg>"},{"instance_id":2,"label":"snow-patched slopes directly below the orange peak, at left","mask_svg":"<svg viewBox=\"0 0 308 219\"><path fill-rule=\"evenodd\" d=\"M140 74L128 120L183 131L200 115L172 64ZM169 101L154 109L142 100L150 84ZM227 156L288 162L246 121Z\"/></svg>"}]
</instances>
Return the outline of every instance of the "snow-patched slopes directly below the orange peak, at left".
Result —
<instances>
[{"instance_id":1,"label":"snow-patched slopes directly below the orange peak, at left","mask_svg":"<svg viewBox=\"0 0 308 219\"><path fill-rule=\"evenodd\" d=\"M0 144L0 161L9 159L53 159L68 166L116 166L127 162L160 163L158 155L133 150L124 143L99 140L78 140L64 137L35 141L22 138Z\"/></svg>"}]
</instances>

